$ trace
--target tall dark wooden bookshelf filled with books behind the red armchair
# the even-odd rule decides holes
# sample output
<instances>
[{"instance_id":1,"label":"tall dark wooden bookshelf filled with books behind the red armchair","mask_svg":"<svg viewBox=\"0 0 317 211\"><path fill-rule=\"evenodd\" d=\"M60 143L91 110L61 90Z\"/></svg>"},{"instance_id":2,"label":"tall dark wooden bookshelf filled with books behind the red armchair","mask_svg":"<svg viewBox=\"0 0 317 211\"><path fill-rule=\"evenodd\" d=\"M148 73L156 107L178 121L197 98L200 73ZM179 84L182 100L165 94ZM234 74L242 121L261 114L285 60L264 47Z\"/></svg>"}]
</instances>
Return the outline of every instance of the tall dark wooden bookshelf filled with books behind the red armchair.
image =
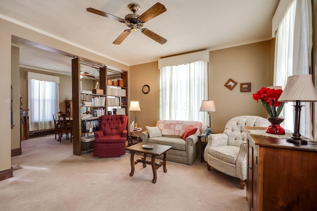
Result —
<instances>
[{"instance_id":1,"label":"tall dark wooden bookshelf filled with books behind the red armchair","mask_svg":"<svg viewBox=\"0 0 317 211\"><path fill-rule=\"evenodd\" d=\"M128 73L125 71L113 71L106 66L99 68L100 89L104 90L103 94L87 93L81 90L80 83L80 58L72 59L72 113L73 113L73 154L81 155L83 151L89 150L89 143L84 135L97 131L96 125L99 126L99 117L108 115L108 111L113 114L113 109L118 109L122 114L128 115ZM107 85L107 80L121 78L123 86ZM121 93L111 90L121 90ZM118 91L120 92L120 91ZM124 96L121 96L124 95ZM90 103L91 101L91 103ZM109 104L110 103L110 104ZM83 110L87 108L94 116L92 119L82 119ZM90 108L90 109L88 109ZM94 111L96 113L94 113ZM85 128L86 127L86 130ZM88 130L87 128L93 128ZM95 128L95 129L94 129ZM86 136L87 137L87 136ZM83 139L83 140L82 140ZM93 146L93 144L92 144Z\"/></svg>"}]
</instances>

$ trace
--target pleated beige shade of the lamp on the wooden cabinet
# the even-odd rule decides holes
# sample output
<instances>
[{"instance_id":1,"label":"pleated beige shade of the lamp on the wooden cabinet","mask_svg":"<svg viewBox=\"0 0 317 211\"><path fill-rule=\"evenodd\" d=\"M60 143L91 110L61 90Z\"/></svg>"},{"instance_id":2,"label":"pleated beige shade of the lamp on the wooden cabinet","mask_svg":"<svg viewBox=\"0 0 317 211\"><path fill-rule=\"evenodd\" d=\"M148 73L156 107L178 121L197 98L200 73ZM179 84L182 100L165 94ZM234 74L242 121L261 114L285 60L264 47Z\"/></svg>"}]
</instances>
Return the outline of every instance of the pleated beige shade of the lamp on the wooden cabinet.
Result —
<instances>
[{"instance_id":1,"label":"pleated beige shade of the lamp on the wooden cabinet","mask_svg":"<svg viewBox=\"0 0 317 211\"><path fill-rule=\"evenodd\" d=\"M284 91L278 98L280 102L312 102L317 101L317 92L313 84L313 76L294 75L287 78Z\"/></svg>"}]
</instances>

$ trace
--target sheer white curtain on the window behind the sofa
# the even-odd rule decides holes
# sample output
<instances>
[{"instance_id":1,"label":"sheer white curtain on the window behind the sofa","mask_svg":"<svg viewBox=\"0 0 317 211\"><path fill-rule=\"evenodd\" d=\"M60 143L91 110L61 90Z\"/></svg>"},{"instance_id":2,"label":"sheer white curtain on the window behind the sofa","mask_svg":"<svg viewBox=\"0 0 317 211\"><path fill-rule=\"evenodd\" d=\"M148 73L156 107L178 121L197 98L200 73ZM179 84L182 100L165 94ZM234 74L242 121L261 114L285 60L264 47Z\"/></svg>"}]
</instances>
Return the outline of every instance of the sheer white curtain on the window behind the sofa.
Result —
<instances>
[{"instance_id":1,"label":"sheer white curtain on the window behind the sofa","mask_svg":"<svg viewBox=\"0 0 317 211\"><path fill-rule=\"evenodd\" d=\"M209 126L207 112L200 112L208 99L208 62L160 68L160 120L200 121Z\"/></svg>"}]
</instances>

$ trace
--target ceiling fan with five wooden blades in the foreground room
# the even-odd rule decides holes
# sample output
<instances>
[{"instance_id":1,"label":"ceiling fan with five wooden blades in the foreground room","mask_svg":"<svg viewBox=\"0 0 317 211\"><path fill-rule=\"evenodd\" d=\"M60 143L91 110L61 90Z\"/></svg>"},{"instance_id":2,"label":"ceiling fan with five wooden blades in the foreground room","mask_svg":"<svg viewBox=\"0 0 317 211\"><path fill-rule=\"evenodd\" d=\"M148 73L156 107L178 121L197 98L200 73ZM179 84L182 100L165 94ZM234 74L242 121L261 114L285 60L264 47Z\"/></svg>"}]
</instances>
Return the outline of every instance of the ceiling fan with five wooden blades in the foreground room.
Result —
<instances>
[{"instance_id":1,"label":"ceiling fan with five wooden blades in the foreground room","mask_svg":"<svg viewBox=\"0 0 317 211\"><path fill-rule=\"evenodd\" d=\"M124 30L115 41L113 41L113 44L121 44L121 42L124 41L124 39L130 34L130 32L136 32L138 29L141 30L142 34L148 36L149 38L155 40L156 42L159 42L160 44L164 44L167 42L166 39L162 38L161 36L157 35L156 33L152 32L149 29L143 28L143 24L152 18L155 18L156 16L160 15L161 13L166 11L166 8L161 3L154 4L150 9L145 11L142 15L138 15L137 13L140 11L141 7L136 3L130 3L128 5L129 10L132 12L131 14L127 14L124 19L116 17L114 15L108 14L106 12L94 9L94 8L87 8L88 12L92 12L101 16L105 16L107 18L111 18L113 20L119 21L121 23L124 23L127 25L130 29Z\"/></svg>"}]
</instances>

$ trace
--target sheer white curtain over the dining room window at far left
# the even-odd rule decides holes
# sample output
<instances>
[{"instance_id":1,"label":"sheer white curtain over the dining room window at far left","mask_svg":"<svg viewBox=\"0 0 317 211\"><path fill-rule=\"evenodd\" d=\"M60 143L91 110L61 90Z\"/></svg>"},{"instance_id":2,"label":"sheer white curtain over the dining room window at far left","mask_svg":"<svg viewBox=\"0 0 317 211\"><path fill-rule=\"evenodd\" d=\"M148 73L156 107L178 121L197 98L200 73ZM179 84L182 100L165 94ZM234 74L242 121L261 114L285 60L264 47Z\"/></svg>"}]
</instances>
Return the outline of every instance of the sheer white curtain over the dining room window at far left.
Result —
<instances>
[{"instance_id":1,"label":"sheer white curtain over the dining room window at far left","mask_svg":"<svg viewBox=\"0 0 317 211\"><path fill-rule=\"evenodd\" d=\"M53 114L59 111L58 83L28 80L30 130L54 128Z\"/></svg>"}]
</instances>

